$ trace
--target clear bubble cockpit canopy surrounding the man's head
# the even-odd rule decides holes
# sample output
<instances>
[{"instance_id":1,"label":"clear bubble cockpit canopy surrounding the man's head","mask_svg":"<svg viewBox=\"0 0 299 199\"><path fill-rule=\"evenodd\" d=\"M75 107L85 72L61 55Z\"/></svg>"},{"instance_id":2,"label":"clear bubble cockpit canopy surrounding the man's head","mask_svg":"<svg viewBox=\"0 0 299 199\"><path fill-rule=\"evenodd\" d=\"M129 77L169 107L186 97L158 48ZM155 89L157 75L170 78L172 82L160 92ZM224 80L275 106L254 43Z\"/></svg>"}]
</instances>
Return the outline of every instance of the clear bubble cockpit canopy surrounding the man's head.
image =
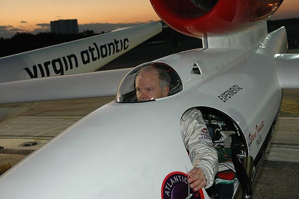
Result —
<instances>
[{"instance_id":1,"label":"clear bubble cockpit canopy surrounding the man's head","mask_svg":"<svg viewBox=\"0 0 299 199\"><path fill-rule=\"evenodd\" d=\"M137 101L137 95L136 95L136 88L135 88L135 78L137 75L137 72L146 66L155 66L155 67L161 67L164 71L167 71L170 76L170 88L168 92L168 96L174 95L178 92L180 92L183 89L182 82L176 71L170 67L169 65L161 62L149 62L145 64L141 64L134 69L132 69L122 80L122 82L119 85L117 95L116 95L116 102L118 103L136 103ZM154 99L149 100L154 101ZM144 102L144 101L143 101Z\"/></svg>"}]
</instances>

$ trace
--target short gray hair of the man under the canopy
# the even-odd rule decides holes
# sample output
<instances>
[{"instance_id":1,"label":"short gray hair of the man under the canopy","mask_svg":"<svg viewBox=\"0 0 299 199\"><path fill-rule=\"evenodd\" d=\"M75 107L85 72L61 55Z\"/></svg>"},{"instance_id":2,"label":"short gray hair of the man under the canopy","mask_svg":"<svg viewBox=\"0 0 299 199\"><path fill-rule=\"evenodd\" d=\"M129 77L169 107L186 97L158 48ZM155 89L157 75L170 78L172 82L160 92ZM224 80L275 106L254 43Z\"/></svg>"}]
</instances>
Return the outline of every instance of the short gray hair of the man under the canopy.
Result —
<instances>
[{"instance_id":1,"label":"short gray hair of the man under the canopy","mask_svg":"<svg viewBox=\"0 0 299 199\"><path fill-rule=\"evenodd\" d=\"M170 79L169 72L167 70L165 70L164 68L155 66L155 65L149 65L149 66L145 66L145 67L139 69L137 72L137 75L135 77L135 81L140 73L148 72L151 69L155 69L157 72L160 88L164 89L166 86L168 86L170 88L171 79Z\"/></svg>"}]
</instances>

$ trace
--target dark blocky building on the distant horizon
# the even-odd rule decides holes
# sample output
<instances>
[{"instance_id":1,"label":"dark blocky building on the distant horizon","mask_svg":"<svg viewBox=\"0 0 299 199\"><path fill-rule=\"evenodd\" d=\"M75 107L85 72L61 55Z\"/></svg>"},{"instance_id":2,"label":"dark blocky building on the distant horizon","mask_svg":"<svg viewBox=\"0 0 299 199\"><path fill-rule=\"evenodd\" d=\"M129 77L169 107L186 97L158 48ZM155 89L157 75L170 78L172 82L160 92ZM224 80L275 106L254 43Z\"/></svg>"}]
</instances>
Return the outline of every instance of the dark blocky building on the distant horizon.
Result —
<instances>
[{"instance_id":1,"label":"dark blocky building on the distant horizon","mask_svg":"<svg viewBox=\"0 0 299 199\"><path fill-rule=\"evenodd\" d=\"M51 21L51 32L61 34L78 34L78 21L77 19Z\"/></svg>"}]
</instances>

